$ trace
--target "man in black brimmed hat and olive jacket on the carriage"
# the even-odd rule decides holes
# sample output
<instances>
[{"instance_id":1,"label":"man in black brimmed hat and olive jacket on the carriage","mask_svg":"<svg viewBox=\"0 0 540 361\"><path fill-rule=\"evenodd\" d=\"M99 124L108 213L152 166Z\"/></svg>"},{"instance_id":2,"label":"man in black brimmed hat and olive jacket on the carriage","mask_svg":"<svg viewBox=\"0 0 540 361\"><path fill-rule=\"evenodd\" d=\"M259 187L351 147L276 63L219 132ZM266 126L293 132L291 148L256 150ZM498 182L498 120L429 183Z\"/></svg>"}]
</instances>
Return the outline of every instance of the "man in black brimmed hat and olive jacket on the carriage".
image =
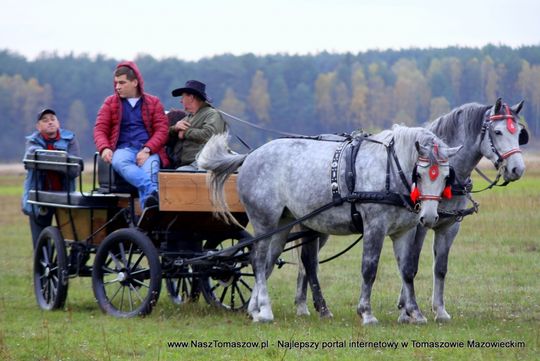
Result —
<instances>
[{"instance_id":1,"label":"man in black brimmed hat and olive jacket on the carriage","mask_svg":"<svg viewBox=\"0 0 540 361\"><path fill-rule=\"evenodd\" d=\"M171 152L172 166L178 170L198 170L197 154L214 134L225 131L225 121L210 104L206 85L188 80L183 88L172 91L188 113L184 119L169 127L169 138L176 142Z\"/></svg>"}]
</instances>

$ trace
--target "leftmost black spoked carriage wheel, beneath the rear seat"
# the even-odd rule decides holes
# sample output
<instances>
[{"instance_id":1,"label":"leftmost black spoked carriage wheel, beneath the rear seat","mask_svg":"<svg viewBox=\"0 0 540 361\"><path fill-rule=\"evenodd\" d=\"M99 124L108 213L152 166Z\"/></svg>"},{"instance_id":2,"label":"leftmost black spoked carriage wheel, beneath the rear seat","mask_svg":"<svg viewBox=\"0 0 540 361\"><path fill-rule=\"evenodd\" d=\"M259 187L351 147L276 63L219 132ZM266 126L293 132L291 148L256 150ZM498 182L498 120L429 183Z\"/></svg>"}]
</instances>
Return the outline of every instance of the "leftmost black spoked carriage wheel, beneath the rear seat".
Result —
<instances>
[{"instance_id":1,"label":"leftmost black spoked carriage wheel, beneath the rear seat","mask_svg":"<svg viewBox=\"0 0 540 361\"><path fill-rule=\"evenodd\" d=\"M64 238L56 227L47 227L39 235L34 251L34 291L39 307L47 311L64 307L67 290Z\"/></svg>"}]
</instances>

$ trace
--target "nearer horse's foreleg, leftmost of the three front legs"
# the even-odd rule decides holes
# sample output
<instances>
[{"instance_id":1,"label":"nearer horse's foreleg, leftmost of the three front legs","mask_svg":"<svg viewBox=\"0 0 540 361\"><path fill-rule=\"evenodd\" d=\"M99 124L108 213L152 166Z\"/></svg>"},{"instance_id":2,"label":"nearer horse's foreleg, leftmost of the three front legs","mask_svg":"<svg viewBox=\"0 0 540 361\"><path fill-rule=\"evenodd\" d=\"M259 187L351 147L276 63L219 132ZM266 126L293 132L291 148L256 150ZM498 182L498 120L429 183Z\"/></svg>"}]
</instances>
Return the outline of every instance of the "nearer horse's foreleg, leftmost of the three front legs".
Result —
<instances>
[{"instance_id":1,"label":"nearer horse's foreleg, leftmost of the three front legs","mask_svg":"<svg viewBox=\"0 0 540 361\"><path fill-rule=\"evenodd\" d=\"M385 233L379 229L365 227L364 248L362 253L362 292L356 308L356 313L362 317L363 325L378 323L371 311L371 289L377 276L377 267L383 246Z\"/></svg>"}]
</instances>

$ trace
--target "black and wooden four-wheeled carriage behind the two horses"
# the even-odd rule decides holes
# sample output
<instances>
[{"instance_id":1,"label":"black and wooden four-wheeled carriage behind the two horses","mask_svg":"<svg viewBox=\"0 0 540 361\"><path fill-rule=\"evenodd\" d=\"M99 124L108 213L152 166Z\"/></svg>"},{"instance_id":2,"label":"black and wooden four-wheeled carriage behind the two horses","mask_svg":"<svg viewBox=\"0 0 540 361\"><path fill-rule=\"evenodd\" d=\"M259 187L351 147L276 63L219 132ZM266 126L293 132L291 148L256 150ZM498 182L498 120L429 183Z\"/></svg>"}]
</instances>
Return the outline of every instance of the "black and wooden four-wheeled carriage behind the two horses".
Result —
<instances>
[{"instance_id":1,"label":"black and wooden four-wheeled carriage behind the two horses","mask_svg":"<svg viewBox=\"0 0 540 361\"><path fill-rule=\"evenodd\" d=\"M41 232L34 252L42 309L62 308L74 277L91 277L99 307L116 317L149 314L162 280L176 304L202 294L217 307L247 306L253 284L249 247L231 248L250 237L241 227L247 217L234 177L226 191L239 224L229 225L212 215L204 172L160 170L160 205L141 210L137 190L97 155L89 192L82 191L81 158L40 150L24 163L35 172L77 179L79 188L42 191L36 185L29 195L37 209L53 208L56 220Z\"/></svg>"}]
</instances>

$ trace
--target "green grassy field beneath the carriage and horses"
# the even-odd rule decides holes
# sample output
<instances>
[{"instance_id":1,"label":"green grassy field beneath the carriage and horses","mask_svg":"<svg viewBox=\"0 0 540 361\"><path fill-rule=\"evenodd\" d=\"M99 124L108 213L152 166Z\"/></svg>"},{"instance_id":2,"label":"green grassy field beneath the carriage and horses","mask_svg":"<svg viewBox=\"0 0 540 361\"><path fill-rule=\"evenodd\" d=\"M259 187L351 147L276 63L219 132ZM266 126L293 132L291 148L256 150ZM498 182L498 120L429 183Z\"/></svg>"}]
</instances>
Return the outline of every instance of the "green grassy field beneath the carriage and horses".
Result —
<instances>
[{"instance_id":1,"label":"green grassy field beneath the carriage and horses","mask_svg":"<svg viewBox=\"0 0 540 361\"><path fill-rule=\"evenodd\" d=\"M538 360L540 167L529 167L518 183L475 197L480 213L463 221L450 255L446 304L453 320L448 324L435 323L430 311L429 235L416 278L418 302L429 319L423 326L397 323L400 280L390 242L373 289L380 321L374 327L363 327L355 311L359 246L321 266L332 320L319 320L314 312L295 316L296 268L290 265L270 279L272 324L254 324L243 313L216 310L203 300L174 306L164 289L150 316L114 319L100 312L87 278L70 280L64 310L43 312L33 292L27 219L19 211L21 184L20 174L0 176L1 360ZM352 239L333 238L323 257ZM293 261L294 255L284 258ZM183 341L188 345L169 345ZM243 341L261 345L236 347ZM289 349L284 342L290 341L314 344ZM506 347L481 344L491 341L505 341Z\"/></svg>"}]
</instances>

